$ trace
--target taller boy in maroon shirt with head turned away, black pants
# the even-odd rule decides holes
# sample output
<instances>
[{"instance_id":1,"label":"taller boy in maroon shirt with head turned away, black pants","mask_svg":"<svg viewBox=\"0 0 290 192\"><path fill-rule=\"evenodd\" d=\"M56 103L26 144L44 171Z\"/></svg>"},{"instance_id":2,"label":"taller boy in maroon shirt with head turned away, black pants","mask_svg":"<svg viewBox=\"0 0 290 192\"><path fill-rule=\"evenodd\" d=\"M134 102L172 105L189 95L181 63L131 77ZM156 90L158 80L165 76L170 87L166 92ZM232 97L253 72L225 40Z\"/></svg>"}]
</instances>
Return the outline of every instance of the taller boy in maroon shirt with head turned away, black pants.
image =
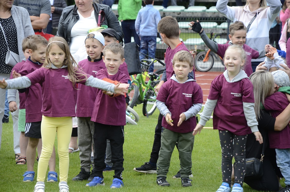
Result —
<instances>
[{"instance_id":1,"label":"taller boy in maroon shirt with head turned away, black pants","mask_svg":"<svg viewBox=\"0 0 290 192\"><path fill-rule=\"evenodd\" d=\"M169 47L166 49L165 54L165 71L163 72L161 81L159 85L156 87L156 91L159 91L161 85L163 85L164 82L168 81L172 75L174 74L173 67L172 67L172 59L175 53L185 50L189 50L186 48L183 42L179 40L179 25L175 18L172 16L166 16L163 17L159 23L158 23L158 32L160 33L160 36L163 40L163 42L168 45ZM195 79L194 76L194 68L193 70L188 74L191 79ZM144 163L141 167L134 168L133 170L140 173L150 173L154 174L156 173L156 163L158 160L158 154L161 146L161 121L162 121L162 115L159 114L158 117L158 123L155 128L155 135L154 135L154 143L152 147L152 152L150 154L150 161ZM193 175L190 173L189 177L193 177ZM178 172L173 178L180 178L180 172Z\"/></svg>"}]
</instances>

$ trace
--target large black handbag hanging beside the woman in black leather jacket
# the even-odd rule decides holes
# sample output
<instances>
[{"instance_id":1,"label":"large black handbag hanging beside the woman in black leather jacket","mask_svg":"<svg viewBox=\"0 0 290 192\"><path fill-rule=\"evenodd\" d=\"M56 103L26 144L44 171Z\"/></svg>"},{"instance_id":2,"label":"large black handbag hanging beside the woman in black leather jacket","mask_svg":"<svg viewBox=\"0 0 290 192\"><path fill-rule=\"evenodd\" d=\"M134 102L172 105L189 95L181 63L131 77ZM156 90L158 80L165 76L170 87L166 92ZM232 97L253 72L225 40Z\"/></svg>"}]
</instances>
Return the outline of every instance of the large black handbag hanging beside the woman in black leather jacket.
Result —
<instances>
[{"instance_id":1,"label":"large black handbag hanging beside the woman in black leather jacket","mask_svg":"<svg viewBox=\"0 0 290 192\"><path fill-rule=\"evenodd\" d=\"M128 66L129 75L142 73L138 47L135 42L126 43L124 46L124 58Z\"/></svg>"}]
</instances>

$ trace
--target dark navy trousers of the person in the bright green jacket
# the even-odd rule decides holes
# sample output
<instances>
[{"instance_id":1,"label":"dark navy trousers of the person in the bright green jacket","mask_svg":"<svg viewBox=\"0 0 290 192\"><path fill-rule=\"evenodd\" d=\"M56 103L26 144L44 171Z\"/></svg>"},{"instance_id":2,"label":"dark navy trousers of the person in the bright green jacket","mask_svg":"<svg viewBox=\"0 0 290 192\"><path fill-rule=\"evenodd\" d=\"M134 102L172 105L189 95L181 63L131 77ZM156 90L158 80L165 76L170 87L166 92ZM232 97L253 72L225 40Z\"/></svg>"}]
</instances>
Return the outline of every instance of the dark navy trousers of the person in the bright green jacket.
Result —
<instances>
[{"instance_id":1,"label":"dark navy trousers of the person in the bright green jacket","mask_svg":"<svg viewBox=\"0 0 290 192\"><path fill-rule=\"evenodd\" d=\"M124 43L130 43L131 37L134 37L134 41L139 45L140 51L140 38L135 30L135 20L123 20L121 22L122 31L124 33Z\"/></svg>"}]
</instances>

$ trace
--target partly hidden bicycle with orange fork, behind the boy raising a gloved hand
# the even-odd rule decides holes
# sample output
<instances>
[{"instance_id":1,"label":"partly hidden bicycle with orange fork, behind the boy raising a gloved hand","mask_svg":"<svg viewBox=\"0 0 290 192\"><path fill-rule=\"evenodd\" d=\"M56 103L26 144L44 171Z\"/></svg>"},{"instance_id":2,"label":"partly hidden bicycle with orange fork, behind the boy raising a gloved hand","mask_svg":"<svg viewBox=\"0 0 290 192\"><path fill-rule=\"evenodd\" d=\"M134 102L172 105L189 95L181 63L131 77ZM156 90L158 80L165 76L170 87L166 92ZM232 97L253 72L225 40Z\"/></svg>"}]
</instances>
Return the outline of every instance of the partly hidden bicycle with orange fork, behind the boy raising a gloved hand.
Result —
<instances>
[{"instance_id":1,"label":"partly hidden bicycle with orange fork, behind the boy raising a gloved hand","mask_svg":"<svg viewBox=\"0 0 290 192\"><path fill-rule=\"evenodd\" d=\"M225 35L226 33L221 33L221 34L213 34L213 32L210 33L210 39L214 42L216 37ZM212 69L213 63L214 63L214 58L220 59L222 65L225 65L223 63L223 59L219 56L217 57L215 53L213 53L210 49L205 48L205 51L199 52L195 58L194 58L194 65L195 68L198 71L206 72Z\"/></svg>"}]
</instances>

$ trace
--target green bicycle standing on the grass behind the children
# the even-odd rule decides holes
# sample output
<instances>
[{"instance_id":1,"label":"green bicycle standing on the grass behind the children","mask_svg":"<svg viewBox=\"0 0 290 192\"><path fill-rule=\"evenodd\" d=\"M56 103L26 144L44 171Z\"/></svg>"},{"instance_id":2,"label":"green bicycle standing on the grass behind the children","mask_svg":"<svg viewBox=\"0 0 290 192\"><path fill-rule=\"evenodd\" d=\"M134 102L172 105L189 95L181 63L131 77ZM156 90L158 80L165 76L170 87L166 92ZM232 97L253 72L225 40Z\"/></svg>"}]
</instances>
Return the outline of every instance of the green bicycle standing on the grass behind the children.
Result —
<instances>
[{"instance_id":1,"label":"green bicycle standing on the grass behind the children","mask_svg":"<svg viewBox=\"0 0 290 192\"><path fill-rule=\"evenodd\" d=\"M149 81L146 83L142 74L148 71L149 67L155 62L158 61L163 66L165 64L159 59L153 59L151 62L141 62L142 64L142 73L137 74L136 77L131 75L132 83L128 90L128 95L130 97L129 107L133 108L137 104L143 103L142 113L144 116L152 115L156 109L156 97L157 92L155 91L156 85L159 84L159 75L153 72L148 73ZM163 70L164 71L164 70ZM163 74L163 72L162 72ZM156 80L158 79L158 80ZM143 90L144 87L144 90Z\"/></svg>"}]
</instances>

